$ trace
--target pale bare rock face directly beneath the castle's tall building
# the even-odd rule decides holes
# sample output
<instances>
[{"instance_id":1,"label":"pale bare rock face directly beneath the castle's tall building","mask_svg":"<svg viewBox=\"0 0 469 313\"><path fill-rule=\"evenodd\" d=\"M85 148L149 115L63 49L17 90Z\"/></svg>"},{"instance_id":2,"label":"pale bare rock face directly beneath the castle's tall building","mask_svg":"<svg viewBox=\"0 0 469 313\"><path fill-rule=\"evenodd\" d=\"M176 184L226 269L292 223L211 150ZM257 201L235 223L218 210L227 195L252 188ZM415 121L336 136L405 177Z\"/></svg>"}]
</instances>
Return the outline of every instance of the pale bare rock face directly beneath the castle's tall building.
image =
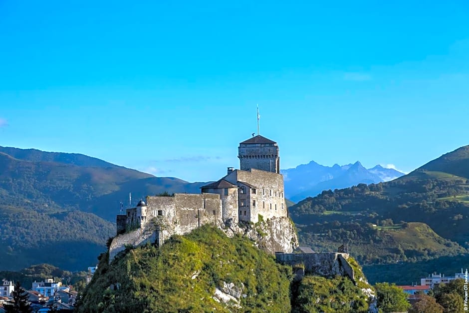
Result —
<instances>
[{"instance_id":1,"label":"pale bare rock face directly beneath the castle's tall building","mask_svg":"<svg viewBox=\"0 0 469 313\"><path fill-rule=\"evenodd\" d=\"M288 217L274 217L267 221L259 218L255 224L227 223L222 231L230 238L236 234L247 237L254 242L256 247L270 254L275 254L275 252L291 253L298 247L296 229Z\"/></svg>"}]
</instances>

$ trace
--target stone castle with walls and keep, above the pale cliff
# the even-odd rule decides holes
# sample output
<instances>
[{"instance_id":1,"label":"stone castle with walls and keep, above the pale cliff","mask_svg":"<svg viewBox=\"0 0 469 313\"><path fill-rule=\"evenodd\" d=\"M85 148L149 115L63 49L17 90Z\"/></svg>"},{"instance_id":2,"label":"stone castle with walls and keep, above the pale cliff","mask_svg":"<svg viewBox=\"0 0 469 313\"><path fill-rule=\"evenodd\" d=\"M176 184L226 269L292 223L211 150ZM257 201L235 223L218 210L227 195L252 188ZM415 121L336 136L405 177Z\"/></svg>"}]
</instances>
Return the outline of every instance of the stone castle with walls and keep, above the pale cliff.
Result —
<instances>
[{"instance_id":1,"label":"stone castle with walls and keep, above the pale cliff","mask_svg":"<svg viewBox=\"0 0 469 313\"><path fill-rule=\"evenodd\" d=\"M238 158L239 170L229 167L225 177L202 186L200 194L147 196L125 215L118 215L118 236L110 252L115 255L127 244L152 241L161 245L174 234L209 223L223 228L259 219L289 220L277 143L253 136L239 143Z\"/></svg>"}]
</instances>

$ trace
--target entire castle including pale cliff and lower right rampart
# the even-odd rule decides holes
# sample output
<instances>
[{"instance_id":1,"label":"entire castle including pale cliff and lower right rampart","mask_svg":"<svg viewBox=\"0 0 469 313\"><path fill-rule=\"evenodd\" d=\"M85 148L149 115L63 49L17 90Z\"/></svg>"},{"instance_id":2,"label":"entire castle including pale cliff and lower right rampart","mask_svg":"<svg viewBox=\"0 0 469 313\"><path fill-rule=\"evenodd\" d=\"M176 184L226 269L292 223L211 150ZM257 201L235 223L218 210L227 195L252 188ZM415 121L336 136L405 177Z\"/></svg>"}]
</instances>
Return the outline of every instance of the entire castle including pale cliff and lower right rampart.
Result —
<instances>
[{"instance_id":1,"label":"entire castle including pale cliff and lower right rampart","mask_svg":"<svg viewBox=\"0 0 469 313\"><path fill-rule=\"evenodd\" d=\"M125 215L118 215L109 262L126 246L160 246L172 235L213 224L230 237L242 234L275 254L277 262L294 268L296 279L308 271L348 276L355 283L347 253L295 250L298 238L285 203L277 143L253 136L239 143L238 158L239 170L229 167L226 176L202 186L200 194L147 196Z\"/></svg>"}]
</instances>

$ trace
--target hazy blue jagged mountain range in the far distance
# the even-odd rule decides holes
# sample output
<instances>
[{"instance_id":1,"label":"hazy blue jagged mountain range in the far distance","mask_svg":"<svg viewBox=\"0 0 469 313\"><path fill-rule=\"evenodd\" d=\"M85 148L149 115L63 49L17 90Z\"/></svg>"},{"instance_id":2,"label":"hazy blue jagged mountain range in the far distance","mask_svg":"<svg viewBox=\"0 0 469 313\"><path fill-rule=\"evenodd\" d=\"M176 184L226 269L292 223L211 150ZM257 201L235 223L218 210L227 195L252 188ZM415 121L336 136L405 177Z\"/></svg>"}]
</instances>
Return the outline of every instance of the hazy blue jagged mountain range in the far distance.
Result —
<instances>
[{"instance_id":1,"label":"hazy blue jagged mountain range in the far distance","mask_svg":"<svg viewBox=\"0 0 469 313\"><path fill-rule=\"evenodd\" d=\"M359 161L342 166L324 166L311 161L280 172L284 178L285 196L294 202L316 196L323 190L346 188L360 183L385 182L404 175L381 165L366 169Z\"/></svg>"}]
</instances>

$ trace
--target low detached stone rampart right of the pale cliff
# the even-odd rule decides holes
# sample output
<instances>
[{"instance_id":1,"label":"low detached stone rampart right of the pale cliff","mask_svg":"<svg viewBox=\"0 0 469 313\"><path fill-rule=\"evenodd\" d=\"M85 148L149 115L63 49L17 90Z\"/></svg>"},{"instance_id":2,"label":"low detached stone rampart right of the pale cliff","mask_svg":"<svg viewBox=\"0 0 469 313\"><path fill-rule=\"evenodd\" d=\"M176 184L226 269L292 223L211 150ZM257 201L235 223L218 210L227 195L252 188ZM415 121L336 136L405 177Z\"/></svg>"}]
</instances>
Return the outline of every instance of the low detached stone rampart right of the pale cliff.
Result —
<instances>
[{"instance_id":1,"label":"low detached stone rampart right of the pale cliff","mask_svg":"<svg viewBox=\"0 0 469 313\"><path fill-rule=\"evenodd\" d=\"M276 253L278 263L304 265L306 273L320 276L348 276L355 283L355 274L346 253Z\"/></svg>"}]
</instances>

